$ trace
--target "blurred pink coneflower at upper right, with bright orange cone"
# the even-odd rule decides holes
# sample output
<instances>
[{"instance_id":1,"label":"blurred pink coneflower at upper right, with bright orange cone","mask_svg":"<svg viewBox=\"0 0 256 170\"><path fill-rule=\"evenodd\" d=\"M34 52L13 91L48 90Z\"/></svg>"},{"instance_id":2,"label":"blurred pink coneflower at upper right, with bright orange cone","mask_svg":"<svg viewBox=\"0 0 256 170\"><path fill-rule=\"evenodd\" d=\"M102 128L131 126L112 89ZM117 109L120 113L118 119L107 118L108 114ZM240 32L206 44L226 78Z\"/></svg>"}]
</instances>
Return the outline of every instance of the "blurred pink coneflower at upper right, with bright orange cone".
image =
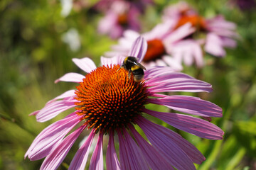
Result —
<instances>
[{"instance_id":1,"label":"blurred pink coneflower at upper right, with bright orange cone","mask_svg":"<svg viewBox=\"0 0 256 170\"><path fill-rule=\"evenodd\" d=\"M236 41L234 39L238 38L238 34L235 33L235 23L225 21L223 16L204 18L198 15L186 2L181 2L167 7L164 10L163 19L164 21L171 20L176 22L176 26L173 27L174 30L186 23L191 23L193 28L196 28L194 33L184 38L183 42L186 43L181 43L181 45L176 47L175 50L178 50L176 52L178 55L183 51L184 46L193 49L193 47L204 45L204 50L210 55L224 57L224 47L236 47ZM193 57L192 52L191 55L183 55L184 62L191 60L189 59L191 57Z\"/></svg>"}]
</instances>

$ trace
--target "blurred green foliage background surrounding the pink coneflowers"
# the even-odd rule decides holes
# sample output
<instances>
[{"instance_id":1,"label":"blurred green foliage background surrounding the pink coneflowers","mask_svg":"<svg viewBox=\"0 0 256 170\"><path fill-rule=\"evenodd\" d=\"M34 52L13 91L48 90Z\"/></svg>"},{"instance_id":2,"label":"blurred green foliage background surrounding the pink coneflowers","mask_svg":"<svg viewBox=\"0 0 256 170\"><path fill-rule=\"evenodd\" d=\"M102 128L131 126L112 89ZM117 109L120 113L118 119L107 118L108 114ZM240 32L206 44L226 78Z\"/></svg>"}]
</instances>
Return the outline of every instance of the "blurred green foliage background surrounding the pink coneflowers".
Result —
<instances>
[{"instance_id":1,"label":"blurred green foliage background surrounding the pink coneflowers","mask_svg":"<svg viewBox=\"0 0 256 170\"><path fill-rule=\"evenodd\" d=\"M155 6L149 6L140 18L142 31L159 23L162 9L175 2L156 0ZM89 6L94 3L90 1ZM225 132L223 140L181 135L205 155L206 162L197 165L198 169L256 169L256 10L242 11L235 1L188 3L202 16L222 14L233 21L241 38L225 58L206 55L206 67L199 71L185 67L183 71L213 85L212 93L200 95L223 108L223 118L213 118ZM54 84L67 72L82 73L71 61L73 57L90 57L100 64L100 56L117 42L97 33L102 13L73 8L62 16L61 11L58 0L0 1L0 169L39 169L43 160L24 160L26 150L43 128L70 111L46 123L38 123L28 114L75 88L72 83ZM76 47L65 42L68 33L78 33ZM67 169L80 140L59 169Z\"/></svg>"}]
</instances>

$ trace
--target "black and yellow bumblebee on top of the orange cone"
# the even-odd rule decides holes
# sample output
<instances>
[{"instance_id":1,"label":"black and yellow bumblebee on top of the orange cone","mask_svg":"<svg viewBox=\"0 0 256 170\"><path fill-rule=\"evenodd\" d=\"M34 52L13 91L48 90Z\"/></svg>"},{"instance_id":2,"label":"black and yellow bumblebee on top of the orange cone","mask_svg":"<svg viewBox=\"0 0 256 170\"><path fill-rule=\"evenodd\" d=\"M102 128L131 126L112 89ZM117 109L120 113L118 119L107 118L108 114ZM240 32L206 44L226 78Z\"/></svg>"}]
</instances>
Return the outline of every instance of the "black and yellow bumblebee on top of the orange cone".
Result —
<instances>
[{"instance_id":1,"label":"black and yellow bumblebee on top of the orange cone","mask_svg":"<svg viewBox=\"0 0 256 170\"><path fill-rule=\"evenodd\" d=\"M124 59L124 62L122 63L120 68L124 68L129 72L129 78L131 77L132 72L132 74L134 75L134 81L142 81L144 77L143 69L146 70L146 68L137 61L136 57L131 56Z\"/></svg>"}]
</instances>

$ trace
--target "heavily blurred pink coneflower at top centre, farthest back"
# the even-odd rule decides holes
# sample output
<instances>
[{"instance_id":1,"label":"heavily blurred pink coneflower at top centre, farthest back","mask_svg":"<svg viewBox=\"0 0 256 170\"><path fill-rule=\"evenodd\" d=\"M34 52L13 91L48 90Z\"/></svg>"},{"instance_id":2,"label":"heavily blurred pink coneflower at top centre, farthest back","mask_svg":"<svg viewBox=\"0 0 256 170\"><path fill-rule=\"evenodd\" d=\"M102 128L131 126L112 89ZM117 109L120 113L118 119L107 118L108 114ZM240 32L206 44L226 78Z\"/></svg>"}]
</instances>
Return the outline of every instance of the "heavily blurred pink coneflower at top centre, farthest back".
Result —
<instances>
[{"instance_id":1,"label":"heavily blurred pink coneflower at top centre, farthest back","mask_svg":"<svg viewBox=\"0 0 256 170\"><path fill-rule=\"evenodd\" d=\"M139 30L139 11L131 8L131 5L124 1L114 1L111 8L105 14L98 25L98 31L108 34L111 38L119 38L124 30Z\"/></svg>"}]
</instances>

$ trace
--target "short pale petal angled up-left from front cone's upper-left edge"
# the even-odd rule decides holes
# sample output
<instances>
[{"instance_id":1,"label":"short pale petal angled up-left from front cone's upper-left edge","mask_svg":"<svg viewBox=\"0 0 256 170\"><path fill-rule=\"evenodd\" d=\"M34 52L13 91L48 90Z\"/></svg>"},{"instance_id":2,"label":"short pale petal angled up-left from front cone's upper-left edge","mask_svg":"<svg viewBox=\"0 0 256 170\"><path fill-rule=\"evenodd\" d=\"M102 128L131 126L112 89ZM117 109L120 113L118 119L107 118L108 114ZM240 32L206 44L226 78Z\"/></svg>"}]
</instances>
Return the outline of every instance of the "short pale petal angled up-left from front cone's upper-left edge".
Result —
<instances>
[{"instance_id":1,"label":"short pale petal angled up-left from front cone's upper-left edge","mask_svg":"<svg viewBox=\"0 0 256 170\"><path fill-rule=\"evenodd\" d=\"M88 57L78 59L78 58L73 58L72 59L75 64L82 69L83 71L90 73L92 72L93 69L96 69L97 67L95 66L95 63Z\"/></svg>"}]
</instances>

